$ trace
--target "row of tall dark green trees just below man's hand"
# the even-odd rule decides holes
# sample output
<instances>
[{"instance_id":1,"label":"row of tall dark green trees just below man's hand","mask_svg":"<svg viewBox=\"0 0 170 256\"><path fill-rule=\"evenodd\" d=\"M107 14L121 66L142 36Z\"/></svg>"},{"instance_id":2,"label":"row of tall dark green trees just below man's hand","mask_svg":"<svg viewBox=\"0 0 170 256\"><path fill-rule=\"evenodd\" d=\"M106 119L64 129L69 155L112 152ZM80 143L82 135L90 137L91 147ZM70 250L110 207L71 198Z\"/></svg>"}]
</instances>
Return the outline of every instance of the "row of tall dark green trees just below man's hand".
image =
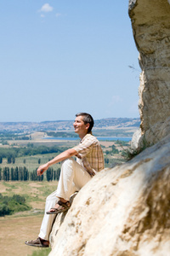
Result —
<instances>
[{"instance_id":1,"label":"row of tall dark green trees just below man's hand","mask_svg":"<svg viewBox=\"0 0 170 256\"><path fill-rule=\"evenodd\" d=\"M54 170L53 168L48 168L48 171L46 173L46 179L47 181L52 180L59 180L60 175L60 168L57 170ZM44 178L43 174L42 176L37 176L37 170L33 172L28 172L28 169L24 167L18 167L15 168L8 168L4 167L3 169L0 168L0 180L3 181L42 181Z\"/></svg>"}]
</instances>

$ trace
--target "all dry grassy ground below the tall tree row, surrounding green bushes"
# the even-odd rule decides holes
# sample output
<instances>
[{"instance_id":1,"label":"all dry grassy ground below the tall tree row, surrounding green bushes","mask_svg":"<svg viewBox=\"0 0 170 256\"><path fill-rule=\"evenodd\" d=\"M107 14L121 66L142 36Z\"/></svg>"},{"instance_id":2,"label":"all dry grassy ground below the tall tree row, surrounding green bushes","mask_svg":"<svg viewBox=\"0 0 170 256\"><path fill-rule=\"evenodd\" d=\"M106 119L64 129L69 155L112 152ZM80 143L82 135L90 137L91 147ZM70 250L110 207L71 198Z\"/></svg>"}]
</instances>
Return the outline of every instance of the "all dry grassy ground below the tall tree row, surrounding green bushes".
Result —
<instances>
[{"instance_id":1,"label":"all dry grassy ground below the tall tree row, surrounding green bushes","mask_svg":"<svg viewBox=\"0 0 170 256\"><path fill-rule=\"evenodd\" d=\"M38 211L18 212L0 218L0 247L3 256L27 256L40 248L28 247L25 241L36 239L42 223L43 209L47 195L57 188L57 182L0 182L3 195L25 195L31 207Z\"/></svg>"}]
</instances>

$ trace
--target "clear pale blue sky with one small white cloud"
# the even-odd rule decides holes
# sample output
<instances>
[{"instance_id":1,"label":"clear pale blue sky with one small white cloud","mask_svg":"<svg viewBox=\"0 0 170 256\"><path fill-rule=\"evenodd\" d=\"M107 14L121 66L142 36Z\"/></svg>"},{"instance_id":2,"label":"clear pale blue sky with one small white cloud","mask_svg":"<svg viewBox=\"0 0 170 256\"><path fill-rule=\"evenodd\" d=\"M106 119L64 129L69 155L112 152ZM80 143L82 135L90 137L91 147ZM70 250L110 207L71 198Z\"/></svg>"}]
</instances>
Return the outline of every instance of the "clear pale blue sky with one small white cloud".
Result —
<instances>
[{"instance_id":1,"label":"clear pale blue sky with one small white cloud","mask_svg":"<svg viewBox=\"0 0 170 256\"><path fill-rule=\"evenodd\" d=\"M139 117L127 9L128 0L1 1L0 121Z\"/></svg>"}]
</instances>

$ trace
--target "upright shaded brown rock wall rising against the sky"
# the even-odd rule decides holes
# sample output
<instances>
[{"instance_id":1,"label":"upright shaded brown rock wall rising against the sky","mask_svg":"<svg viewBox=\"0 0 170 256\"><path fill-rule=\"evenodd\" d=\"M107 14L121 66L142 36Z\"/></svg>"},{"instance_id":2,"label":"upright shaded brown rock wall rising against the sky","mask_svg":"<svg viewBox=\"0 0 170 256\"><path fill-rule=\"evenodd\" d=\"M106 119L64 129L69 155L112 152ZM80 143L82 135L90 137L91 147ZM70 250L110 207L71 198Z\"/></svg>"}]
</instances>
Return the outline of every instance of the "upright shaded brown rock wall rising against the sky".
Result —
<instances>
[{"instance_id":1,"label":"upright shaded brown rock wall rising against the sky","mask_svg":"<svg viewBox=\"0 0 170 256\"><path fill-rule=\"evenodd\" d=\"M142 69L139 85L141 135L149 131L152 137L155 128L170 117L169 3L167 0L129 1L129 16ZM166 129L163 135L165 133ZM159 135L157 141L162 138L161 132ZM145 139L147 140L146 137Z\"/></svg>"}]
</instances>

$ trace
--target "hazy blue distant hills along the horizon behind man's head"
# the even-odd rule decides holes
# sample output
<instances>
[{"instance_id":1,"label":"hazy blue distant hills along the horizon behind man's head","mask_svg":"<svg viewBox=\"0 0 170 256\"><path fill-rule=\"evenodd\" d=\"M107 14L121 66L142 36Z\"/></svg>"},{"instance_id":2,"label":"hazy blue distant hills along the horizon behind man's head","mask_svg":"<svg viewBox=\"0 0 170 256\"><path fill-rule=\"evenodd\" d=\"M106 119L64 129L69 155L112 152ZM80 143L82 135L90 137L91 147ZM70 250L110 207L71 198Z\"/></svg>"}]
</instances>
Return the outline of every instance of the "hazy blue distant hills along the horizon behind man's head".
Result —
<instances>
[{"instance_id":1,"label":"hazy blue distant hills along the horizon behind man's head","mask_svg":"<svg viewBox=\"0 0 170 256\"><path fill-rule=\"evenodd\" d=\"M74 120L57 120L44 122L0 122L0 131L72 131ZM139 127L140 119L109 118L94 120L94 130Z\"/></svg>"}]
</instances>

